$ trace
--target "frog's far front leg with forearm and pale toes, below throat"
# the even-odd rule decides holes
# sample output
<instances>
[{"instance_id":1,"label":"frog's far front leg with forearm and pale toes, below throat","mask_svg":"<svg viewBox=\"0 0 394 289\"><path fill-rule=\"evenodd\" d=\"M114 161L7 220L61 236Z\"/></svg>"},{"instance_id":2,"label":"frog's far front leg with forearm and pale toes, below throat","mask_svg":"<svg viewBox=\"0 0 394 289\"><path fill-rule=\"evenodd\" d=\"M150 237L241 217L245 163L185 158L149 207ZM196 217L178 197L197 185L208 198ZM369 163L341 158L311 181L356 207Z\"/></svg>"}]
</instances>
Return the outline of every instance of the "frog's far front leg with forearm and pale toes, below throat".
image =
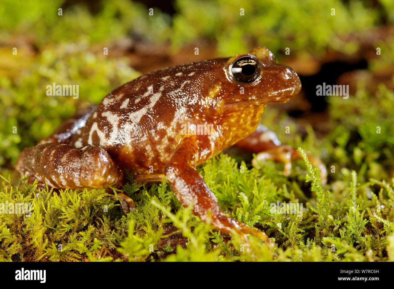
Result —
<instances>
[{"instance_id":1,"label":"frog's far front leg with forearm and pale toes, below throat","mask_svg":"<svg viewBox=\"0 0 394 289\"><path fill-rule=\"evenodd\" d=\"M274 160L276 162L284 163L283 175L288 176L292 169L292 160L301 159L295 147L290 145L283 145L278 140L275 133L262 124L259 124L257 129L235 144L238 147L256 153L256 158L252 160L253 166L256 166L258 161ZM308 160L312 166L320 169L320 177L322 184L327 182L327 169L323 162L307 154Z\"/></svg>"}]
</instances>

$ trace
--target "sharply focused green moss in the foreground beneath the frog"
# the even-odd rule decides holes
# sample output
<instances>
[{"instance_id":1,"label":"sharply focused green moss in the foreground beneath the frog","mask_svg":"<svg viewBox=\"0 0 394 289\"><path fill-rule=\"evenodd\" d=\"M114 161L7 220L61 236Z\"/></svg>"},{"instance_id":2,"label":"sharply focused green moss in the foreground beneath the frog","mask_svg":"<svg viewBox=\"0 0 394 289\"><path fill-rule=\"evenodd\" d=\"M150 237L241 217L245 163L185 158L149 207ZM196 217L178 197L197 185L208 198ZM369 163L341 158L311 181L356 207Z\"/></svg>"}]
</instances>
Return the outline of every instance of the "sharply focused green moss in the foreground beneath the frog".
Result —
<instances>
[{"instance_id":1,"label":"sharply focused green moss in the foreground beneath the frog","mask_svg":"<svg viewBox=\"0 0 394 289\"><path fill-rule=\"evenodd\" d=\"M64 190L59 195L42 190L34 198L35 186L14 188L5 180L0 203L31 203L32 214L0 215L0 256L4 260L51 261L386 260L386 247L391 244L386 238L394 228L392 186L371 180L368 185L379 185L381 190L379 198L372 195L368 199L353 171L345 197L334 197L320 185L316 169L307 159L305 162L307 180L316 195L305 200L301 216L270 210L275 201L305 199L298 195L294 182L283 182L280 175L271 179L261 174L261 169L243 171L225 155L201 168L223 210L250 226L265 228L278 244L275 254L255 237L251 237L246 253L236 236L229 241L212 232L180 206L165 180L150 188L134 182L126 185L123 191L137 205L136 211L127 215L105 190ZM187 238L184 247L160 246L160 240L169 237L163 234L168 223Z\"/></svg>"}]
</instances>

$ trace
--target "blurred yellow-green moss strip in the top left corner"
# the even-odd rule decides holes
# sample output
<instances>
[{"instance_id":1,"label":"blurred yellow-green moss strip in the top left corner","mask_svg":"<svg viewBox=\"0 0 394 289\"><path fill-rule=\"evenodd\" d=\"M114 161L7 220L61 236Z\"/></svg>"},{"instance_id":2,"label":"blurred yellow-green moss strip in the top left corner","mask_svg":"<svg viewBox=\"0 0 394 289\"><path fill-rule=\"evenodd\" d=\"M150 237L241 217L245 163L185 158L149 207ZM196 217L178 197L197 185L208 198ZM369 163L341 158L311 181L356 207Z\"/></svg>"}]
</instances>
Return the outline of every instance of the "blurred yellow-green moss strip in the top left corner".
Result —
<instances>
[{"instance_id":1,"label":"blurred yellow-green moss strip in the top left corner","mask_svg":"<svg viewBox=\"0 0 394 289\"><path fill-rule=\"evenodd\" d=\"M28 35L41 47L83 39L92 43L113 41L130 32L160 42L170 34L169 16L157 8L154 17L149 17L148 8L143 4L126 0L102 1L96 3L99 12L92 15L83 5L64 8L64 2L3 1L0 7L0 23L5 29L2 39L12 38L13 34ZM62 15L58 15L59 8L63 9Z\"/></svg>"}]
</instances>

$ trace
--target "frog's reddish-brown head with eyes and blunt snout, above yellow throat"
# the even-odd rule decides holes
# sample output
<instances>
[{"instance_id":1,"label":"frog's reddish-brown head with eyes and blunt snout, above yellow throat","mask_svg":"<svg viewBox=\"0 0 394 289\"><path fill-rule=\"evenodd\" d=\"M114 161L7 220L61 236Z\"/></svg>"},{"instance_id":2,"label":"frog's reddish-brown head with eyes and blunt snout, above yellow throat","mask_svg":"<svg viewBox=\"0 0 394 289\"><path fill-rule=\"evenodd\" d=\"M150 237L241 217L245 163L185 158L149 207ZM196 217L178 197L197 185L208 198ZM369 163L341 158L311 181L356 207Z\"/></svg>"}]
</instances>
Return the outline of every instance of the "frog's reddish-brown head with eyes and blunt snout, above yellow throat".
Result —
<instances>
[{"instance_id":1,"label":"frog's reddish-brown head with eyes and blunt snout, above yellow throat","mask_svg":"<svg viewBox=\"0 0 394 289\"><path fill-rule=\"evenodd\" d=\"M239 53L223 66L226 75L221 105L251 107L264 103L286 102L301 90L301 81L292 68L275 62L267 48Z\"/></svg>"}]
</instances>

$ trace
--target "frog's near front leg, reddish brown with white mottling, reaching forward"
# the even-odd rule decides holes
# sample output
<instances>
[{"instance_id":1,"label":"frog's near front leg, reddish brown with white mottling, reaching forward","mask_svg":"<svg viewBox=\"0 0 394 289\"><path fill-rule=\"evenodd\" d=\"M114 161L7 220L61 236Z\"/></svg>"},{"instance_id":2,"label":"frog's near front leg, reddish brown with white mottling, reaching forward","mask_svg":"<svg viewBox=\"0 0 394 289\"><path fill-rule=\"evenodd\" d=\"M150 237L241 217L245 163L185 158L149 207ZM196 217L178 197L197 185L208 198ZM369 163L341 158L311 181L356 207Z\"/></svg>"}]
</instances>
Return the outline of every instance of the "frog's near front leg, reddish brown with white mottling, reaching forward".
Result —
<instances>
[{"instance_id":1,"label":"frog's near front leg, reddish brown with white mottling, reaching forward","mask_svg":"<svg viewBox=\"0 0 394 289\"><path fill-rule=\"evenodd\" d=\"M253 230L221 211L214 193L209 190L203 177L195 169L202 151L197 144L196 136L184 138L165 166L165 177L179 202L184 207L193 204L193 214L203 222L210 218L211 224L221 232L236 232L242 236L252 234L273 247L273 243L264 232Z\"/></svg>"}]
</instances>

